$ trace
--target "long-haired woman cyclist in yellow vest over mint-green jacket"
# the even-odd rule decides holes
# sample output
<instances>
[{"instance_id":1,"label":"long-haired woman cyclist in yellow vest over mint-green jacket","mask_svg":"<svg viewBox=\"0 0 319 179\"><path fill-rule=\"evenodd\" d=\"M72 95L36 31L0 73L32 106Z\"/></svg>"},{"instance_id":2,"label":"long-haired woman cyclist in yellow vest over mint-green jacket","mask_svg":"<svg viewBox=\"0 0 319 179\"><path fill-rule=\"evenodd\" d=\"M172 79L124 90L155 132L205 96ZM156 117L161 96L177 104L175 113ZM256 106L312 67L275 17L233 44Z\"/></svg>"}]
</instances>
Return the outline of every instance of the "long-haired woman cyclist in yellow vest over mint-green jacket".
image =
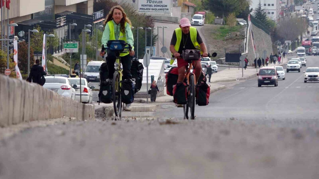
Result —
<instances>
[{"instance_id":1,"label":"long-haired woman cyclist in yellow vest over mint-green jacket","mask_svg":"<svg viewBox=\"0 0 319 179\"><path fill-rule=\"evenodd\" d=\"M125 49L120 54L121 63L123 66L123 77L122 79L132 79L131 75L131 65L132 65L132 56L134 56L134 39L133 33L131 30L131 21L126 17L121 6L113 6L108 14L108 17L104 21L104 32L102 36L102 44L104 47L107 47L108 40L124 40L126 43L130 44L132 50ZM101 52L103 56L105 52ZM108 56L106 57L107 67L108 67L108 80L113 79L113 74L115 71L114 63L116 60L115 53L107 50ZM125 110L130 111L130 104L127 104Z\"/></svg>"}]
</instances>

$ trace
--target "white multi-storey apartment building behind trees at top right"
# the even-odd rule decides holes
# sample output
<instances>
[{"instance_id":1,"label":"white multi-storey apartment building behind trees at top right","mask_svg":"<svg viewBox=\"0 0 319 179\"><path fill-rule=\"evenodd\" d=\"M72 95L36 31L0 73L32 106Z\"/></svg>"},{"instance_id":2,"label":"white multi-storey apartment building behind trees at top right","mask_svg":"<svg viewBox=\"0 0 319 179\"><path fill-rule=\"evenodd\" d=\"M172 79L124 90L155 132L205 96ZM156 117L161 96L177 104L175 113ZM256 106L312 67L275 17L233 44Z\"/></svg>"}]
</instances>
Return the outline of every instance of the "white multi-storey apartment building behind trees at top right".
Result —
<instances>
[{"instance_id":1,"label":"white multi-storey apartment building behind trees at top right","mask_svg":"<svg viewBox=\"0 0 319 179\"><path fill-rule=\"evenodd\" d=\"M253 8L253 12L258 7L259 1L261 3L262 9L267 13L268 17L272 20L278 22L281 18L281 4L280 0L252 0L250 8Z\"/></svg>"}]
</instances>

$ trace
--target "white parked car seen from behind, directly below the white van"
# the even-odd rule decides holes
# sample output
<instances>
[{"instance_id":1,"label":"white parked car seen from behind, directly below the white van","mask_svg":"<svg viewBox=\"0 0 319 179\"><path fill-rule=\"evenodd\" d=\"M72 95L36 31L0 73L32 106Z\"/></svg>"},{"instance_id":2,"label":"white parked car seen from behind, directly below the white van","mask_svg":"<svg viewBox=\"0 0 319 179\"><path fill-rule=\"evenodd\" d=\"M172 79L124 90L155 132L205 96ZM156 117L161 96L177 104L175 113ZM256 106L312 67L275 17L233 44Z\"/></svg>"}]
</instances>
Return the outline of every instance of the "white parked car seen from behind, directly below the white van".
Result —
<instances>
[{"instance_id":1,"label":"white parked car seen from behind, directly below the white van","mask_svg":"<svg viewBox=\"0 0 319 179\"><path fill-rule=\"evenodd\" d=\"M76 85L75 89L75 100L80 102L80 91L82 91L82 103L93 103L93 92L94 86L90 86L90 83L87 82L85 78L81 78L81 85L80 85L80 78L69 78L69 81L72 85Z\"/></svg>"}]
</instances>

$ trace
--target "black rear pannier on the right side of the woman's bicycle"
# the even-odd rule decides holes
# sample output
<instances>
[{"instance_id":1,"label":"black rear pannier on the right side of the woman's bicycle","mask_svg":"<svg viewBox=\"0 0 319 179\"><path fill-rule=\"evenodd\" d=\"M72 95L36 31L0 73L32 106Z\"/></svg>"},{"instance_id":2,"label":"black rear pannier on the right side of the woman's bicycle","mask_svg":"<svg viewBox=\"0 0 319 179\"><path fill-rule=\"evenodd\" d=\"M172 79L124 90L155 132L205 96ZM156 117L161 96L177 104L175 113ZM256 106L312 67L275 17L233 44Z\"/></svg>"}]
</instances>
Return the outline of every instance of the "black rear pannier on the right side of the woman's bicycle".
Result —
<instances>
[{"instance_id":1,"label":"black rear pannier on the right side of the woman's bicycle","mask_svg":"<svg viewBox=\"0 0 319 179\"><path fill-rule=\"evenodd\" d=\"M142 87L142 81L143 81L143 64L138 61L137 58L133 58L132 60L132 66L131 66L131 75L132 80L135 82L135 91L134 93L137 93Z\"/></svg>"}]
</instances>

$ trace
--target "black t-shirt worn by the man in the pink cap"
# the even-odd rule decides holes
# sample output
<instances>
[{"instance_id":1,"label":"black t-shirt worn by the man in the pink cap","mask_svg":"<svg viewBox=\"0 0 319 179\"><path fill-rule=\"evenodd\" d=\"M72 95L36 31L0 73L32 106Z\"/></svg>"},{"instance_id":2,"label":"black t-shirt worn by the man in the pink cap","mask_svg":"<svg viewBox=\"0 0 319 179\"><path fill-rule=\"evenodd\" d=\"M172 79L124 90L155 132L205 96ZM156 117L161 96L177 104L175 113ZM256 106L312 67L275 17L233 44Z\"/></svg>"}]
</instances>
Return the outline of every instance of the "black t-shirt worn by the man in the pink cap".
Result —
<instances>
[{"instance_id":1,"label":"black t-shirt worn by the man in the pink cap","mask_svg":"<svg viewBox=\"0 0 319 179\"><path fill-rule=\"evenodd\" d=\"M197 29L196 29L197 31ZM178 53L182 54L183 50L192 50L192 49L196 49L193 45L193 42L192 40L190 39L190 31L188 32L187 35L185 35L183 32L182 32L182 39L181 39L181 44L180 44L180 47L178 49ZM198 44L201 44L203 43L203 40L202 38L200 37L198 31L197 31L197 42ZM175 45L176 44L176 41L177 41L177 37L176 37L176 32L174 30L173 32L173 36L172 36L172 40L171 40L171 45ZM184 48L184 44L185 44L185 48Z\"/></svg>"}]
</instances>

